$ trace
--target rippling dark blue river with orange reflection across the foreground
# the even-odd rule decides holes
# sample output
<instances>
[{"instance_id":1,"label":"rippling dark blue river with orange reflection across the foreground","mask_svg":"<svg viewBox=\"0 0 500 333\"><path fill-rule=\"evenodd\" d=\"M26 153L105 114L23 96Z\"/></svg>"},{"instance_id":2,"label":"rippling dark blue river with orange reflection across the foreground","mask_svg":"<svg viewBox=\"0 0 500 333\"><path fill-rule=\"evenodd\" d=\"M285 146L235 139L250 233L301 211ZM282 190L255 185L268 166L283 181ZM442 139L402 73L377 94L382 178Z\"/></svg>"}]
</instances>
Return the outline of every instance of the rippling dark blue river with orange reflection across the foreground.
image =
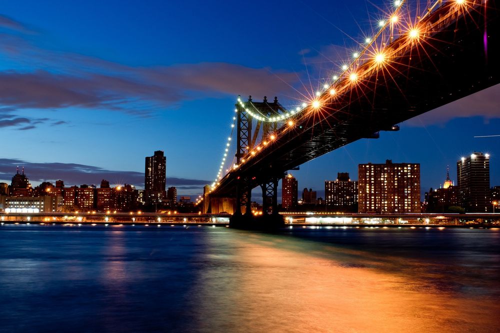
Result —
<instances>
[{"instance_id":1,"label":"rippling dark blue river with orange reflection across the foreground","mask_svg":"<svg viewBox=\"0 0 500 333\"><path fill-rule=\"evenodd\" d=\"M500 230L0 227L0 331L500 330Z\"/></svg>"}]
</instances>

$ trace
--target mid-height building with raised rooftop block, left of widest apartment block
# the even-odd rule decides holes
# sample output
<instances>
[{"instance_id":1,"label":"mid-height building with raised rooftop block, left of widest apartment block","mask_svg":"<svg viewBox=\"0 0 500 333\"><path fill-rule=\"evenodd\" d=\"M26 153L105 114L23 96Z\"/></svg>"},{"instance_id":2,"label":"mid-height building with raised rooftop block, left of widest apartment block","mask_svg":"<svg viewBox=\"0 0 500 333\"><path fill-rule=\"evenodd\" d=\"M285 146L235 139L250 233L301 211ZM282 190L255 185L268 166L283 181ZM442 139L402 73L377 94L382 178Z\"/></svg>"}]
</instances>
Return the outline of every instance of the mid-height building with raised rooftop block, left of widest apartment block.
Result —
<instances>
[{"instance_id":1,"label":"mid-height building with raised rooftop block, left of widest apartment block","mask_svg":"<svg viewBox=\"0 0 500 333\"><path fill-rule=\"evenodd\" d=\"M338 172L336 180L324 181L326 208L335 211L357 211L357 181L348 172Z\"/></svg>"}]
</instances>

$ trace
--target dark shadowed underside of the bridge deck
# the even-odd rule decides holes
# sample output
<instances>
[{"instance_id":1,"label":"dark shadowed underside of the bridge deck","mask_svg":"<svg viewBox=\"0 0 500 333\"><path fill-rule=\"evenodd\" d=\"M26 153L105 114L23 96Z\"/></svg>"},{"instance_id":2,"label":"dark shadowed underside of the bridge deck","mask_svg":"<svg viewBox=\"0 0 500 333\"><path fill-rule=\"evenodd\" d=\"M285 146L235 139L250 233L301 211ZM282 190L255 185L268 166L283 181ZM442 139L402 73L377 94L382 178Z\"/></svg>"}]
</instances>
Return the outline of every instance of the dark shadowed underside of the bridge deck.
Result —
<instances>
[{"instance_id":1,"label":"dark shadowed underside of the bridge deck","mask_svg":"<svg viewBox=\"0 0 500 333\"><path fill-rule=\"evenodd\" d=\"M231 196L237 188L268 183L347 143L377 137L380 130L499 83L499 15L495 1L487 5L486 15L471 10L448 21L360 77L347 93L278 129L276 140L227 174L212 193ZM438 18L437 13L429 19Z\"/></svg>"}]
</instances>

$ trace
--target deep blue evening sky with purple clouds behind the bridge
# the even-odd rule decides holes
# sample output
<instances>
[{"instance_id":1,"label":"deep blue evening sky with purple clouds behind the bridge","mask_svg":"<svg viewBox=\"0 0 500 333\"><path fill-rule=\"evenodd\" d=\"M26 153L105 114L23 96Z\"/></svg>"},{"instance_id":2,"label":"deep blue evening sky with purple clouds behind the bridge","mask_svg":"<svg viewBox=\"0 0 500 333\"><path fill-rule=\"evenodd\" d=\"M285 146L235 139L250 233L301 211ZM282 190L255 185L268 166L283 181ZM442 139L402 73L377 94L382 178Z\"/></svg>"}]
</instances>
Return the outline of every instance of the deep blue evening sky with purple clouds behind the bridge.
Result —
<instances>
[{"instance_id":1,"label":"deep blue evening sky with purple clouds behind the bridge","mask_svg":"<svg viewBox=\"0 0 500 333\"><path fill-rule=\"evenodd\" d=\"M8 1L0 14L0 181L143 186L163 150L167 186L198 194L218 171L238 94L291 107L348 58L387 2ZM473 65L473 64L471 64ZM500 85L330 152L292 171L323 196L357 164L419 162L421 188L446 165L490 153L500 185Z\"/></svg>"}]
</instances>

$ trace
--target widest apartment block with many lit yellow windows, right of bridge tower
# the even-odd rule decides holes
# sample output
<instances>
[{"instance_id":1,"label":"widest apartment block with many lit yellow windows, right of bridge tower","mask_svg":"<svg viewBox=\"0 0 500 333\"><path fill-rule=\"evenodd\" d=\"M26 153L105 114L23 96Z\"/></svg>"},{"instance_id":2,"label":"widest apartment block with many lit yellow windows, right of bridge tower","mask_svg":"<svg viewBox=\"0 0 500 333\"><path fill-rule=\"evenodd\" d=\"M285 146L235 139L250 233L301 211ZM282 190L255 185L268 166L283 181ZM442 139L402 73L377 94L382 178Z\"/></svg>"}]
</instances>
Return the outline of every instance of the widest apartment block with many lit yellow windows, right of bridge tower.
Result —
<instances>
[{"instance_id":1,"label":"widest apartment block with many lit yellow windows, right of bridge tower","mask_svg":"<svg viewBox=\"0 0 500 333\"><path fill-rule=\"evenodd\" d=\"M359 164L360 213L420 212L420 164Z\"/></svg>"}]
</instances>

